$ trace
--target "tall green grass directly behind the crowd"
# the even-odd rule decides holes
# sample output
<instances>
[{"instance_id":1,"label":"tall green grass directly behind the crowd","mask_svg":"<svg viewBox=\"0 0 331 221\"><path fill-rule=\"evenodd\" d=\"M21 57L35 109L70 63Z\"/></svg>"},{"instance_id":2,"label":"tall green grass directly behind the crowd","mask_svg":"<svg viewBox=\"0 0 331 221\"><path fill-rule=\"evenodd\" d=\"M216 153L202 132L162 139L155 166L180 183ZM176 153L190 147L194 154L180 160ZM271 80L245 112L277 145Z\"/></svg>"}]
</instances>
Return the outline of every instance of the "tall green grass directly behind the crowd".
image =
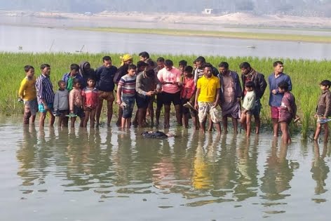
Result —
<instances>
[{"instance_id":1,"label":"tall green grass directly behind the crowd","mask_svg":"<svg viewBox=\"0 0 331 221\"><path fill-rule=\"evenodd\" d=\"M62 75L69 71L71 63L79 63L83 60L88 60L92 67L98 67L102 63L104 54L66 54L66 53L0 53L0 63L3 65L0 76L0 111L2 113L20 114L22 113L22 105L17 102L18 88L20 81L25 77L23 67L27 64L32 65L36 69L36 76L39 76L39 67L42 63L48 63L51 66L50 79L53 81L54 89L57 89L57 81L62 78ZM119 54L110 54L115 66L119 66ZM189 64L196 58L195 55L152 55L156 60L159 56L173 60L175 65L179 60L187 60ZM239 71L238 65L243 61L248 61L257 69L257 71L269 76L272 72L272 62L275 59L271 58L225 58L208 56L205 57L208 62L215 67L220 61L227 61L230 64L230 69ZM134 55L134 61L137 62L138 56ZM278 59L277 59L278 60ZM280 59L283 60L283 59ZM293 83L293 93L297 99L298 114L302 117L302 135L305 137L309 132L309 128L315 126L313 114L316 110L318 95L320 88L318 83L323 79L331 79L330 62L328 61L313 61L313 60L283 60L285 63L285 73L290 74ZM269 120L269 92L268 88L262 99L262 120L263 123L270 123Z\"/></svg>"}]
</instances>

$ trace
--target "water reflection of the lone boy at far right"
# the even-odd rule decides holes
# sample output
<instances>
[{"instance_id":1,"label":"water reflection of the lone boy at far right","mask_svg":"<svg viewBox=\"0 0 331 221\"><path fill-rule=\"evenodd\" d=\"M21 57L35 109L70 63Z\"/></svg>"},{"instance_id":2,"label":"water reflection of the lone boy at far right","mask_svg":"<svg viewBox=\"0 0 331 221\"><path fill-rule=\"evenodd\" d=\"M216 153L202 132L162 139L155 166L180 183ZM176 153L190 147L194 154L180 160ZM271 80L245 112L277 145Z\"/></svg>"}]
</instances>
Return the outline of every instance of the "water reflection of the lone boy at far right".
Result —
<instances>
[{"instance_id":1,"label":"water reflection of the lone boy at far right","mask_svg":"<svg viewBox=\"0 0 331 221\"><path fill-rule=\"evenodd\" d=\"M329 166L324 161L327 154L327 142L323 143L323 152L320 154L318 142L313 142L313 152L315 154L313 163L311 163L311 173L313 180L316 181L315 194L323 194L327 192L325 189L325 180L327 173L330 172Z\"/></svg>"}]
</instances>

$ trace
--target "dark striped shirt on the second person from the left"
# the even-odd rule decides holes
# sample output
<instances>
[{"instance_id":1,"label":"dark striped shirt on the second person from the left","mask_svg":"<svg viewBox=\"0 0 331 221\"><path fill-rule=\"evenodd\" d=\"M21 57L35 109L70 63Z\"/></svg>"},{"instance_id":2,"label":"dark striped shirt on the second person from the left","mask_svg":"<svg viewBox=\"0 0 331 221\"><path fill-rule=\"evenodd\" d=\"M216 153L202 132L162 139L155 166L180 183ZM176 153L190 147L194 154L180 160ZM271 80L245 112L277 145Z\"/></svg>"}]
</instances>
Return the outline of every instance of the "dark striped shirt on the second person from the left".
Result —
<instances>
[{"instance_id":1,"label":"dark striped shirt on the second person from the left","mask_svg":"<svg viewBox=\"0 0 331 221\"><path fill-rule=\"evenodd\" d=\"M41 99L45 100L48 104L54 102L53 85L50 82L49 76L41 74L36 79L36 96L39 104L42 104Z\"/></svg>"}]
</instances>

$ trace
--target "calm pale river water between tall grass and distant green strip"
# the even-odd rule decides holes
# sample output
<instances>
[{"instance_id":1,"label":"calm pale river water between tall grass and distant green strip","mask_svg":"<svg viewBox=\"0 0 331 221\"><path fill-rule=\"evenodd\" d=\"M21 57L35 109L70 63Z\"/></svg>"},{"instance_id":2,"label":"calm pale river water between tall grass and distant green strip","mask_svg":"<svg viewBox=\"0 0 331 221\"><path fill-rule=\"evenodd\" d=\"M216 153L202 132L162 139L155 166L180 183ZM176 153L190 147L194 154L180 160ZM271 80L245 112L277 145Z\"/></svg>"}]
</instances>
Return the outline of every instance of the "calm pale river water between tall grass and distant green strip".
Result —
<instances>
[{"instance_id":1,"label":"calm pale river water between tall grass and distant green strip","mask_svg":"<svg viewBox=\"0 0 331 221\"><path fill-rule=\"evenodd\" d=\"M323 35L323 33L322 33ZM330 43L90 32L0 25L0 51L252 56L330 60Z\"/></svg>"}]
</instances>

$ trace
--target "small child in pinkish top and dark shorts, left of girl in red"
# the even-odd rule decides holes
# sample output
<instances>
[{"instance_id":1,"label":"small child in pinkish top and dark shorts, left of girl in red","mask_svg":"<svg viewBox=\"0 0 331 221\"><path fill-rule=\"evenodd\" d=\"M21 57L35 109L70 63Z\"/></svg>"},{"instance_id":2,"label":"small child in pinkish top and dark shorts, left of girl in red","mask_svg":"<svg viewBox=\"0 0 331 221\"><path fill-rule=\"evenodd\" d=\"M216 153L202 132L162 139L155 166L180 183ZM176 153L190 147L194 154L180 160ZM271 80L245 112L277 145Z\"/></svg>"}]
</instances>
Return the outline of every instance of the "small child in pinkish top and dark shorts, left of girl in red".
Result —
<instances>
[{"instance_id":1,"label":"small child in pinkish top and dark shorts, left of girl in red","mask_svg":"<svg viewBox=\"0 0 331 221\"><path fill-rule=\"evenodd\" d=\"M81 98L81 83L79 79L74 79L72 91L69 93L69 116L71 119L71 127L74 128L76 116L81 119L80 127L83 127L83 121L85 119L85 113L83 111L83 100Z\"/></svg>"}]
</instances>

